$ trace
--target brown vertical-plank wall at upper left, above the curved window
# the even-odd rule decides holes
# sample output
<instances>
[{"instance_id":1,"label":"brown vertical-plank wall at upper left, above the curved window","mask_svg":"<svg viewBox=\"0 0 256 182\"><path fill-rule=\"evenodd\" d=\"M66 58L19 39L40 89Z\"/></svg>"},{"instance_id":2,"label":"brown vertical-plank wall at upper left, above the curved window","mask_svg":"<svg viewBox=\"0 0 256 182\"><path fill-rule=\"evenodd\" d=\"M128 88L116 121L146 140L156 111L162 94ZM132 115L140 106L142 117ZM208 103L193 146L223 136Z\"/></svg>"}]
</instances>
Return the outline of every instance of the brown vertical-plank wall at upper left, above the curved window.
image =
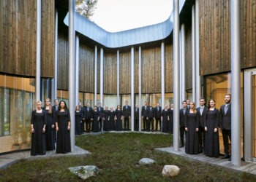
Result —
<instances>
[{"instance_id":1,"label":"brown vertical-plank wall at upper left, above the curved window","mask_svg":"<svg viewBox=\"0 0 256 182\"><path fill-rule=\"evenodd\" d=\"M41 76L54 77L54 0L42 1ZM0 1L0 71L36 75L36 1Z\"/></svg>"}]
</instances>

